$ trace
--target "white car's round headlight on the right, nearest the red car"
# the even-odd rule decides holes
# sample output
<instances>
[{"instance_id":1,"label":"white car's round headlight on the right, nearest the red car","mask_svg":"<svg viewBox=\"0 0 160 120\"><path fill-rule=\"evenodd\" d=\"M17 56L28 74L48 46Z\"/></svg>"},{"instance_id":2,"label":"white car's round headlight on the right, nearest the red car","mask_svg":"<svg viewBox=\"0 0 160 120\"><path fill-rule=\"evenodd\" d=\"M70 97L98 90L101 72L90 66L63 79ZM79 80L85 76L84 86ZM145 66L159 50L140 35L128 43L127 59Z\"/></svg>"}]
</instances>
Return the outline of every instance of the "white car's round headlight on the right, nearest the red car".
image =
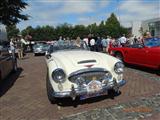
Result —
<instances>
[{"instance_id":1,"label":"white car's round headlight on the right, nearest the red car","mask_svg":"<svg viewBox=\"0 0 160 120\"><path fill-rule=\"evenodd\" d=\"M114 71L117 74L122 74L124 71L124 64L122 62L117 62L114 66Z\"/></svg>"}]
</instances>

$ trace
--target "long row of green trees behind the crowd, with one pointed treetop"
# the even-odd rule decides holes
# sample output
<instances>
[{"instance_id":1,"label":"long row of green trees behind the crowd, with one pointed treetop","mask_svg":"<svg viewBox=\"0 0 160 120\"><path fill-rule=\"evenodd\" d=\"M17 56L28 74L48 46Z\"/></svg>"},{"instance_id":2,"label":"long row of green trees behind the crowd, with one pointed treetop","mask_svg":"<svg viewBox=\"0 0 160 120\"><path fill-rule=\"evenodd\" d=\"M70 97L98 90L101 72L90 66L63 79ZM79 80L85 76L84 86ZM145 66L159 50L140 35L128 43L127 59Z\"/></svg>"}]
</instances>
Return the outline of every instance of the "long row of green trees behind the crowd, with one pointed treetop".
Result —
<instances>
[{"instance_id":1,"label":"long row of green trees behind the crowd, with one pointed treetop","mask_svg":"<svg viewBox=\"0 0 160 120\"><path fill-rule=\"evenodd\" d=\"M90 24L88 26L84 25L75 25L64 23L58 25L57 27L52 26L37 26L32 28L28 26L26 29L21 31L23 36L31 35L32 40L38 41L49 41L49 40L58 40L59 36L64 38L69 37L70 39L76 39L78 36L81 38L87 37L89 34L94 34L94 36L107 37L107 35L117 38L122 34L128 34L128 30L122 27L112 13L107 21L101 21L99 25L96 23Z\"/></svg>"}]
</instances>

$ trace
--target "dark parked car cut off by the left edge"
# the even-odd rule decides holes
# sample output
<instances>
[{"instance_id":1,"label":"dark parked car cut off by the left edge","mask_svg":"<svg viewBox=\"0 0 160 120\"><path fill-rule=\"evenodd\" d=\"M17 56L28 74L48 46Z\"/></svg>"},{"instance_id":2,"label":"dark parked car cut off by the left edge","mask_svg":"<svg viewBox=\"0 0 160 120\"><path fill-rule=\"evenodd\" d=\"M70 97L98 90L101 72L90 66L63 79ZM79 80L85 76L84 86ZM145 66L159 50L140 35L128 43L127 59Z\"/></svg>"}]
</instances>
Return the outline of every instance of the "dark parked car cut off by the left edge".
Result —
<instances>
[{"instance_id":1,"label":"dark parked car cut off by the left edge","mask_svg":"<svg viewBox=\"0 0 160 120\"><path fill-rule=\"evenodd\" d=\"M0 41L0 81L6 78L12 71L17 71L17 60L8 51L8 43Z\"/></svg>"}]
</instances>

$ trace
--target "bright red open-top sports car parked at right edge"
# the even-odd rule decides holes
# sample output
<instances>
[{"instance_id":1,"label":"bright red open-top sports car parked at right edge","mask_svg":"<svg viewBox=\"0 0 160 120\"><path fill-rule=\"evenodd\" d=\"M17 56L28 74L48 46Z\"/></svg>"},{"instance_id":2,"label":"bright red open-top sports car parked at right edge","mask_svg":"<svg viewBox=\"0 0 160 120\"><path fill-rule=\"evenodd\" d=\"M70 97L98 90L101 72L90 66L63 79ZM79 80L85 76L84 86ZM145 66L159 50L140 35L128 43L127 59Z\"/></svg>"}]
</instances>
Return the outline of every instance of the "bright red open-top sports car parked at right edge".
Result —
<instances>
[{"instance_id":1,"label":"bright red open-top sports car parked at right edge","mask_svg":"<svg viewBox=\"0 0 160 120\"><path fill-rule=\"evenodd\" d=\"M109 54L130 64L160 69L160 38L145 39L144 43L126 47L109 47Z\"/></svg>"}]
</instances>

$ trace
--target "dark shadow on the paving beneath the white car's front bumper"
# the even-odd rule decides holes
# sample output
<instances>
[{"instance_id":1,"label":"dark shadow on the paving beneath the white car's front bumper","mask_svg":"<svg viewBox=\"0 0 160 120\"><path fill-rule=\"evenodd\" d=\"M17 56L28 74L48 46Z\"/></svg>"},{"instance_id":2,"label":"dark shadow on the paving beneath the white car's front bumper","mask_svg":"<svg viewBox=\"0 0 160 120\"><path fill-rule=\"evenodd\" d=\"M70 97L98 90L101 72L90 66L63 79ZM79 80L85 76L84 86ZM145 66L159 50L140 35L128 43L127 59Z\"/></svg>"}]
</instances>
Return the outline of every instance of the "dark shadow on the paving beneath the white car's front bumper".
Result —
<instances>
[{"instance_id":1,"label":"dark shadow on the paving beneath the white car's front bumper","mask_svg":"<svg viewBox=\"0 0 160 120\"><path fill-rule=\"evenodd\" d=\"M119 95L121 95L121 92L120 93L110 92L107 95L88 98L85 100L80 100L79 98L77 98L76 100L73 101L71 98L63 98L63 99L57 99L57 104L63 107L67 107L67 106L77 107L78 105L91 104L91 103L99 102L105 99L114 99Z\"/></svg>"}]
</instances>

